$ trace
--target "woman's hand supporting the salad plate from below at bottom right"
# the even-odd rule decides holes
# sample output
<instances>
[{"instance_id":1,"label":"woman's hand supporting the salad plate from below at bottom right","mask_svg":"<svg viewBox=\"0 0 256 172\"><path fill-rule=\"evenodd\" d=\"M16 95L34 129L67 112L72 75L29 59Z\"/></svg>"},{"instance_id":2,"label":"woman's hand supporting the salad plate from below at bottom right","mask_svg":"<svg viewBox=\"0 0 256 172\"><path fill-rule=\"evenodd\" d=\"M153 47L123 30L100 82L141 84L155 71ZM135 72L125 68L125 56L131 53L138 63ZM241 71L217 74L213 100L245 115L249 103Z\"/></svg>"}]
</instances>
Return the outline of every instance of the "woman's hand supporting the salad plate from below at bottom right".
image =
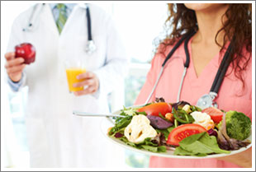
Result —
<instances>
[{"instance_id":1,"label":"woman's hand supporting the salad plate from below at bottom right","mask_svg":"<svg viewBox=\"0 0 256 172\"><path fill-rule=\"evenodd\" d=\"M241 167L252 168L252 147L234 156L225 156L223 158L217 158L217 160L225 160Z\"/></svg>"}]
</instances>

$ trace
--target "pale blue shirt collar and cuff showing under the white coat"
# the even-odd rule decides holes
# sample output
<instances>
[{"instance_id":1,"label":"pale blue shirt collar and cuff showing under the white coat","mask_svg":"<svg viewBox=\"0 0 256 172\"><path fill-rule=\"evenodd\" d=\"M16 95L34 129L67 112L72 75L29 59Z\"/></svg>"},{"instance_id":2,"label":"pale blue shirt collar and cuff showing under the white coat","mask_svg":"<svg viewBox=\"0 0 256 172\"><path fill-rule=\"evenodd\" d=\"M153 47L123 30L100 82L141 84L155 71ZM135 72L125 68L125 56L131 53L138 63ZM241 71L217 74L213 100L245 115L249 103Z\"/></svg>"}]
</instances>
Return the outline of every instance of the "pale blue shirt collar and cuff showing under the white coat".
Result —
<instances>
[{"instance_id":1,"label":"pale blue shirt collar and cuff showing under the white coat","mask_svg":"<svg viewBox=\"0 0 256 172\"><path fill-rule=\"evenodd\" d=\"M73 7L76 5L75 3L64 3L67 7L67 17L69 17L70 13L73 10ZM57 9L57 3L49 3L50 9L53 13L55 21L57 21L59 17L59 10ZM7 77L7 83L11 86L12 91L18 91L21 85L25 82L26 73L22 72L21 80L18 82L13 82L10 77Z\"/></svg>"}]
</instances>

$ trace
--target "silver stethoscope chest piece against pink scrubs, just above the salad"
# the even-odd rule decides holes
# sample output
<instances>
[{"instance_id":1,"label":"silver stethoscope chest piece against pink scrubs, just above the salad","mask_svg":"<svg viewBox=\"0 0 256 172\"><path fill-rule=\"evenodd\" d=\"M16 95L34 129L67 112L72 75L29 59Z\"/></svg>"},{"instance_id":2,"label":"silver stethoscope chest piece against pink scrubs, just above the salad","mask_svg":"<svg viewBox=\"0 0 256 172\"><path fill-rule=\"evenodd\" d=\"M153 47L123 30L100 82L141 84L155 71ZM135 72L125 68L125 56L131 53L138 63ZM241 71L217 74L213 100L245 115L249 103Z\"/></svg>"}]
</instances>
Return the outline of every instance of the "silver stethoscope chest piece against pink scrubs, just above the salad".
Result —
<instances>
[{"instance_id":1,"label":"silver stethoscope chest piece against pink scrubs, just above the salad","mask_svg":"<svg viewBox=\"0 0 256 172\"><path fill-rule=\"evenodd\" d=\"M216 98L216 93L210 92L209 94L202 95L199 100L197 100L197 106L201 109L206 109L209 107L216 107L218 108L218 105L216 102L214 102Z\"/></svg>"}]
</instances>

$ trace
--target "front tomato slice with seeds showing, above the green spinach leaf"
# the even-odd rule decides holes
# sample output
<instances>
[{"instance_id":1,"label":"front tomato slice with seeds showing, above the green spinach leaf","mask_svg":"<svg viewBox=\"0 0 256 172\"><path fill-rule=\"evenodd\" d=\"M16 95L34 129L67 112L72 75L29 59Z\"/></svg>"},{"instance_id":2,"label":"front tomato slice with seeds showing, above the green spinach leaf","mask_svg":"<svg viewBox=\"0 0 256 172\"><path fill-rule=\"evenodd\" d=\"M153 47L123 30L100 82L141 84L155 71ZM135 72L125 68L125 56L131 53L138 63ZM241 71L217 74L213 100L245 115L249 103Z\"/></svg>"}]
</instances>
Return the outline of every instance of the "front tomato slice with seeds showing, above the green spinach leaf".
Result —
<instances>
[{"instance_id":1,"label":"front tomato slice with seeds showing, above the green spinach leaf","mask_svg":"<svg viewBox=\"0 0 256 172\"><path fill-rule=\"evenodd\" d=\"M184 138L200 132L206 132L206 128L201 127L199 124L187 123L174 128L168 135L167 144L178 146Z\"/></svg>"}]
</instances>

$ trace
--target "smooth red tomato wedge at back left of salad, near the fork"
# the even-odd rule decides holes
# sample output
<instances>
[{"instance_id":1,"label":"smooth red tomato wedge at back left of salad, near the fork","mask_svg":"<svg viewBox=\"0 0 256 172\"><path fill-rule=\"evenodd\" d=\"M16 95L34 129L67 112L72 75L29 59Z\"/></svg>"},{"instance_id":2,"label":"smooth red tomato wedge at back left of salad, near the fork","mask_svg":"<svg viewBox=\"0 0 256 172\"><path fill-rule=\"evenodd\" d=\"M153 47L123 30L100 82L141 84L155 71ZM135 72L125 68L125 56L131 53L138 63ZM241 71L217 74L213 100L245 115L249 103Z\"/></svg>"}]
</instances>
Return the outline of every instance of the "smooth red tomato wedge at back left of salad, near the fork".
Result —
<instances>
[{"instance_id":1,"label":"smooth red tomato wedge at back left of salad, near the fork","mask_svg":"<svg viewBox=\"0 0 256 172\"><path fill-rule=\"evenodd\" d=\"M172 113L172 105L165 102L154 103L138 109L138 112L145 112L147 115L154 116L159 116L161 113L165 117L165 114Z\"/></svg>"}]
</instances>

